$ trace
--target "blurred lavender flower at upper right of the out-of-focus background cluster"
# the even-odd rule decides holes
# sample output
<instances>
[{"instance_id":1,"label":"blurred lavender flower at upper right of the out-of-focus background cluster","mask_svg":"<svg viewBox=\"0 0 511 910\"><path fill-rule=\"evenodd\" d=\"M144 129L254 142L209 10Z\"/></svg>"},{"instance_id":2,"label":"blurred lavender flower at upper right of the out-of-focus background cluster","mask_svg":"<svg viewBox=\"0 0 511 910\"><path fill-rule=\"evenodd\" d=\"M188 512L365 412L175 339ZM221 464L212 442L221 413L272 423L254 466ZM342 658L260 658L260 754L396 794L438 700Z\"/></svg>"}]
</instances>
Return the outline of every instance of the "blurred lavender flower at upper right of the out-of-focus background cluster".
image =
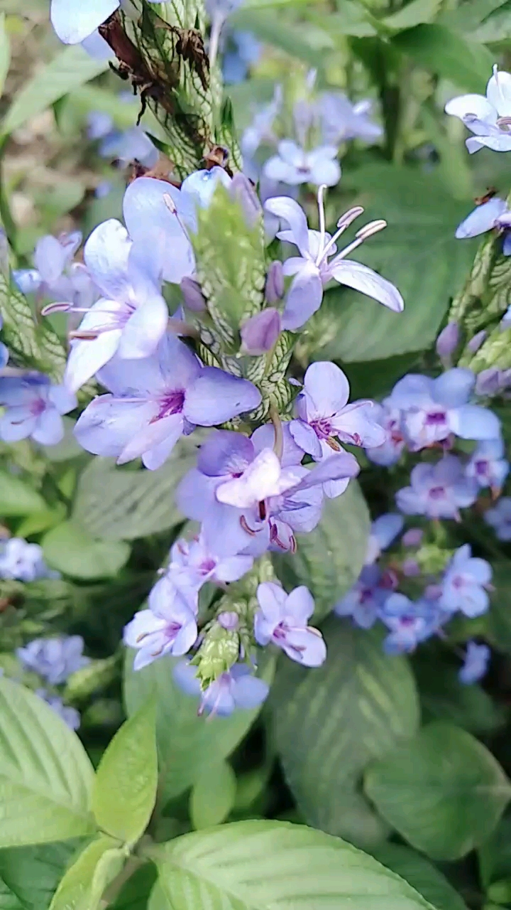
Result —
<instances>
[{"instance_id":1,"label":"blurred lavender flower at upper right of the out-of-focus background cluster","mask_svg":"<svg viewBox=\"0 0 511 910\"><path fill-rule=\"evenodd\" d=\"M318 99L323 141L339 146L348 139L362 139L374 143L383 136L383 129L370 119L372 102L357 101L352 104L342 92L324 92Z\"/></svg>"}]
</instances>

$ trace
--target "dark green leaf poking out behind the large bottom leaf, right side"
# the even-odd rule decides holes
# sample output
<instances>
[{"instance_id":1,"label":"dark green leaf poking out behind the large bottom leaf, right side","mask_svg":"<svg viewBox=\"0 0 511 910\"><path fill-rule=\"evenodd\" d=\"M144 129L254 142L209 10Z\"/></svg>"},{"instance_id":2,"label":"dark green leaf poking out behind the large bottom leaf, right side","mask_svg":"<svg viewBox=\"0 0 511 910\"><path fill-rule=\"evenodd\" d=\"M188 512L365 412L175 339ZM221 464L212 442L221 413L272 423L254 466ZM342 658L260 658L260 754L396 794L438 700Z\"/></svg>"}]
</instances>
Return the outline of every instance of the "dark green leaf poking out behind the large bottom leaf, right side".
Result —
<instances>
[{"instance_id":1,"label":"dark green leaf poking out behind the large bottom leaf, right side","mask_svg":"<svg viewBox=\"0 0 511 910\"><path fill-rule=\"evenodd\" d=\"M382 844L376 847L373 855L387 869L392 869L413 885L419 895L426 897L437 910L466 910L465 901L446 876L415 850L400 844Z\"/></svg>"}]
</instances>

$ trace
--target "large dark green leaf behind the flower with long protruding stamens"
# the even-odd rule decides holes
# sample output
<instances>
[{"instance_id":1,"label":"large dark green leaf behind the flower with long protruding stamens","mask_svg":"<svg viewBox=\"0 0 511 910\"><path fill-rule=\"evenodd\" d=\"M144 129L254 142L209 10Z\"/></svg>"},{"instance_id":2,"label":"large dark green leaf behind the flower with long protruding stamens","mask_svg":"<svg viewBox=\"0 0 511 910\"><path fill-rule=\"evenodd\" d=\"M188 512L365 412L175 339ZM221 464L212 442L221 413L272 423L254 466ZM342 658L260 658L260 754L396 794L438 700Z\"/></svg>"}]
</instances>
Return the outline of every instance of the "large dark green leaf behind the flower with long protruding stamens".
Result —
<instances>
[{"instance_id":1,"label":"large dark green leaf behind the flower with long protruding stamens","mask_svg":"<svg viewBox=\"0 0 511 910\"><path fill-rule=\"evenodd\" d=\"M355 291L332 288L307 324L310 340L301 344L313 357L346 363L429 348L474 258L473 242L455 238L473 201L449 197L435 173L389 164L343 175L343 186L366 207L367 220L386 219L386 230L357 249L355 258L399 288L405 311L392 313Z\"/></svg>"}]
</instances>

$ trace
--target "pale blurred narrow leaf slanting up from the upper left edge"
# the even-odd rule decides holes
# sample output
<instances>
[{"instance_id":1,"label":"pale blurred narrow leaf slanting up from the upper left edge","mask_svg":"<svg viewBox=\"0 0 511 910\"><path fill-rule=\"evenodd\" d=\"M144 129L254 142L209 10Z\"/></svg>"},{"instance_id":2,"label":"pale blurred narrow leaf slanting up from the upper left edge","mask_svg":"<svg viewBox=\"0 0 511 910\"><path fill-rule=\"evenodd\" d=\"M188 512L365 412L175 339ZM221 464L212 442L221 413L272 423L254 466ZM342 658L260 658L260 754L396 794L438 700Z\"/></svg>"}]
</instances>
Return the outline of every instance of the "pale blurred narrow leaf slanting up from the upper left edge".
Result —
<instances>
[{"instance_id":1,"label":"pale blurred narrow leaf slanting up from the upper left edge","mask_svg":"<svg viewBox=\"0 0 511 910\"><path fill-rule=\"evenodd\" d=\"M7 136L23 126L27 120L40 114L68 92L83 86L89 79L108 69L107 60L96 60L85 53L80 45L58 51L50 63L31 76L15 96L5 114L2 134Z\"/></svg>"}]
</instances>

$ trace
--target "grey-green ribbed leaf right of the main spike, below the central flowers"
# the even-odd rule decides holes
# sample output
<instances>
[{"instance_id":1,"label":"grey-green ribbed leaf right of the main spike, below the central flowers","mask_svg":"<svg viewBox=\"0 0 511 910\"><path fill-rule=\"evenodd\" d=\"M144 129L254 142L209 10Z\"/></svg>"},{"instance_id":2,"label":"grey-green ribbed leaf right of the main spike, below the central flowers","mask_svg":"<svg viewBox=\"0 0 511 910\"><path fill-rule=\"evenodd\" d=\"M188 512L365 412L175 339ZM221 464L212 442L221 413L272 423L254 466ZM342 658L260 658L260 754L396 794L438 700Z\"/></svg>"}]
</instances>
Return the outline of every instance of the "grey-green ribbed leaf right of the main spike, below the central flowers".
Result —
<instances>
[{"instance_id":1,"label":"grey-green ribbed leaf right of the main spike, below the central flowers","mask_svg":"<svg viewBox=\"0 0 511 910\"><path fill-rule=\"evenodd\" d=\"M316 600L315 620L333 610L364 565L370 518L355 480L336 500L325 499L315 531L296 537L293 554L272 554L279 579L291 590L305 584Z\"/></svg>"}]
</instances>

